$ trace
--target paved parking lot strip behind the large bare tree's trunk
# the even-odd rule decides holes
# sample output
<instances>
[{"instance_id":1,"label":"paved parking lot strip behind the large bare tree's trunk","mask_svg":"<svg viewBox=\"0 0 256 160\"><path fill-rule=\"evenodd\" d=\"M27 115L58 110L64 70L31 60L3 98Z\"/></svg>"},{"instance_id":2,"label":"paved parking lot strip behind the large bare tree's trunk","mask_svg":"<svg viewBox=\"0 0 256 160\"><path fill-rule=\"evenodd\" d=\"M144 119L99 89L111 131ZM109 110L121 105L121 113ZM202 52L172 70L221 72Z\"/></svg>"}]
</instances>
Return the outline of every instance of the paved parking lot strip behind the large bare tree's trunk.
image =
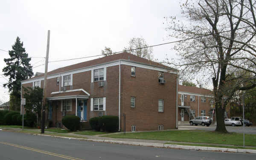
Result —
<instances>
[{"instance_id":1,"label":"paved parking lot strip behind the large bare tree's trunk","mask_svg":"<svg viewBox=\"0 0 256 160\"><path fill-rule=\"evenodd\" d=\"M188 124L188 125L179 125L179 128L180 129L198 129L198 130L205 130L205 131L214 131L216 128L216 125L210 125L209 127L206 127L206 126L202 127L201 125L195 126L195 125ZM233 126L226 125L226 128L227 128L228 132L243 133L242 126L233 127ZM256 126L250 126L250 127L245 126L244 133L245 134L256 134Z\"/></svg>"}]
</instances>

